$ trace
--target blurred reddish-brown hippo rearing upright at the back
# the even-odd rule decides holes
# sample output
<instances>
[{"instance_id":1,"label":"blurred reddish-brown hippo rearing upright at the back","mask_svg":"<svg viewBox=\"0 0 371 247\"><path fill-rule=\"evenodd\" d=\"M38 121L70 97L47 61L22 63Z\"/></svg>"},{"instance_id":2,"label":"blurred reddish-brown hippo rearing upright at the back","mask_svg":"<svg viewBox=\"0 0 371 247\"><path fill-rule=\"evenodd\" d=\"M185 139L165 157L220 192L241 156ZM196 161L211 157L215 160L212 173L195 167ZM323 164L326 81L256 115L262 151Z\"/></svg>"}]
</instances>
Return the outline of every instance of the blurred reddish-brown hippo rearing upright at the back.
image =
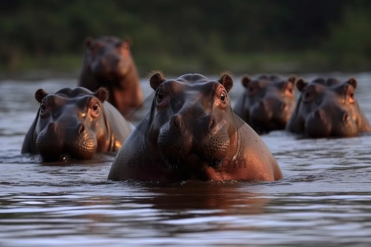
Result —
<instances>
[{"instance_id":1,"label":"blurred reddish-brown hippo rearing upright at the back","mask_svg":"<svg viewBox=\"0 0 371 247\"><path fill-rule=\"evenodd\" d=\"M84 40L85 52L78 86L91 91L108 89L108 102L128 118L142 108L142 89L132 57L131 40L101 36Z\"/></svg>"}]
</instances>

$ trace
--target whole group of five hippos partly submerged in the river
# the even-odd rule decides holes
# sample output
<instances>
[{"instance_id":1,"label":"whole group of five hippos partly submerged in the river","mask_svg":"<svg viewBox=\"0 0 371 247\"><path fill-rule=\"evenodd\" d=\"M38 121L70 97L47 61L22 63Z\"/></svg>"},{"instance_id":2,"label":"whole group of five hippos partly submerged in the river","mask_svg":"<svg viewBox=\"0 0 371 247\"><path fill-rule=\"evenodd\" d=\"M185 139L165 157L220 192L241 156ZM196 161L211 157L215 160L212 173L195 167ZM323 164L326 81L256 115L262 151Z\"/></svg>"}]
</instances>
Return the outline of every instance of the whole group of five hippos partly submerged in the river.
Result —
<instances>
[{"instance_id":1,"label":"whole group of five hippos partly submerged in the river","mask_svg":"<svg viewBox=\"0 0 371 247\"><path fill-rule=\"evenodd\" d=\"M197 73L173 80L152 71L150 112L131 128L127 116L143 99L130 42L102 36L84 44L77 87L36 91L40 106L21 153L53 162L63 154L91 159L116 152L108 174L114 181L274 181L283 175L262 134L285 130L318 138L371 131L354 78L244 76L244 92L232 107L228 71L217 80Z\"/></svg>"}]
</instances>

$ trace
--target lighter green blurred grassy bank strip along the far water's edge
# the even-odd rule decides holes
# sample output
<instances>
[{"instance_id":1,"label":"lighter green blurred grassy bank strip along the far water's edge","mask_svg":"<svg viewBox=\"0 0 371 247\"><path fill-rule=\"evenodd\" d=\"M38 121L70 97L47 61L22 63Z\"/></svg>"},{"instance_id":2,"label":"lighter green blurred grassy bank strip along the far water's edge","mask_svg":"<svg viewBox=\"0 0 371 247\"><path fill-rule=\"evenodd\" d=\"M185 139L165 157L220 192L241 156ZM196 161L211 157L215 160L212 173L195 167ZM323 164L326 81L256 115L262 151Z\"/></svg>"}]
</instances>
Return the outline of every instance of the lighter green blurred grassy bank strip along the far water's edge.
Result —
<instances>
[{"instance_id":1,"label":"lighter green blurred grassy bank strip along the far water's edge","mask_svg":"<svg viewBox=\"0 0 371 247\"><path fill-rule=\"evenodd\" d=\"M361 57L330 57L317 51L281 53L228 53L204 54L197 58L172 56L133 55L141 77L151 70L162 70L165 74L184 73L216 74L230 70L236 75L245 73L322 73L341 71L357 73L369 71L370 61ZM82 63L82 55L59 55L49 57L22 57L9 70L0 64L0 80L44 80L49 78L77 78Z\"/></svg>"}]
</instances>

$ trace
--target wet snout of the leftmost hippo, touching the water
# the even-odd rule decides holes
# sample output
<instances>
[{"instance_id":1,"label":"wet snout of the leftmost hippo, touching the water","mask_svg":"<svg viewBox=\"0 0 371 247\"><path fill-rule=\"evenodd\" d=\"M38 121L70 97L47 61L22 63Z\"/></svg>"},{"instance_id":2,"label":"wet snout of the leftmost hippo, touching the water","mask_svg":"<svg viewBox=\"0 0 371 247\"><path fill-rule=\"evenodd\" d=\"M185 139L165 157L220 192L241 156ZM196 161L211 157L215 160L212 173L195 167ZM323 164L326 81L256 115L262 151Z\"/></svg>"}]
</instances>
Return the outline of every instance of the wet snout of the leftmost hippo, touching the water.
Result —
<instances>
[{"instance_id":1,"label":"wet snout of the leftmost hippo, touching the water","mask_svg":"<svg viewBox=\"0 0 371 247\"><path fill-rule=\"evenodd\" d=\"M36 148L44 161L56 161L63 153L77 159L91 159L97 148L96 138L83 123L65 126L49 123L37 136Z\"/></svg>"}]
</instances>

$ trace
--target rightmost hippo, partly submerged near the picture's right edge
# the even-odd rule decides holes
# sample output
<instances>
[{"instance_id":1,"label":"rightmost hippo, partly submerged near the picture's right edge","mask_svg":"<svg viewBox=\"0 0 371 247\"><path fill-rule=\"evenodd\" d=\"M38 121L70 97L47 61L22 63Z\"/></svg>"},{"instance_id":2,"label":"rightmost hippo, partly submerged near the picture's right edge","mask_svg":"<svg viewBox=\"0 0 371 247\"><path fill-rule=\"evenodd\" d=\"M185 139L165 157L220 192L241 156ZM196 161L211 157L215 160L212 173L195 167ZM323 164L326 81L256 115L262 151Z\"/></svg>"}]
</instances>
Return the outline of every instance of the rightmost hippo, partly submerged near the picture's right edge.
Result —
<instances>
[{"instance_id":1,"label":"rightmost hippo, partly submerged near the picture's right edge","mask_svg":"<svg viewBox=\"0 0 371 247\"><path fill-rule=\"evenodd\" d=\"M370 123L355 97L357 80L317 78L296 82L300 96L286 130L308 138L353 137L370 132Z\"/></svg>"}]
</instances>

